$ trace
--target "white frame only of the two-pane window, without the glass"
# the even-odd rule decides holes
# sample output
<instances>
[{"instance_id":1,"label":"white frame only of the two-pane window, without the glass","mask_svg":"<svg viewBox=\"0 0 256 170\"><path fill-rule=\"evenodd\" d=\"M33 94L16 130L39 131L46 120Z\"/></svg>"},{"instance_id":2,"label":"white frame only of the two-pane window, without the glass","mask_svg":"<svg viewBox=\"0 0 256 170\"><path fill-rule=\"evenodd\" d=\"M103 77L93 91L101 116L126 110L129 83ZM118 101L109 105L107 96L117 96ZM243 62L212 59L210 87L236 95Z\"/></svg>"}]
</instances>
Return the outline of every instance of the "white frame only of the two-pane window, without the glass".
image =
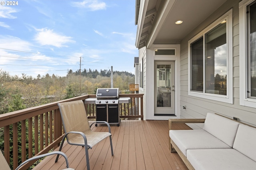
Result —
<instances>
[{"instance_id":1,"label":"white frame only of the two-pane window, without the glass","mask_svg":"<svg viewBox=\"0 0 256 170\"><path fill-rule=\"evenodd\" d=\"M190 45L197 41L199 38L203 37L203 42L205 43L205 34L210 30L214 29L221 21L226 20L226 44L227 44L227 94L210 94L205 92L205 48L203 49L203 92L192 91L191 84L191 50ZM208 27L200 31L197 35L195 35L192 39L188 41L188 96L194 96L209 100L215 100L220 102L225 102L229 104L233 104L233 36L232 36L232 9L226 12L226 14L222 15L220 18L211 23ZM203 43L203 44L204 44ZM205 45L205 44L204 44Z\"/></svg>"}]
</instances>

